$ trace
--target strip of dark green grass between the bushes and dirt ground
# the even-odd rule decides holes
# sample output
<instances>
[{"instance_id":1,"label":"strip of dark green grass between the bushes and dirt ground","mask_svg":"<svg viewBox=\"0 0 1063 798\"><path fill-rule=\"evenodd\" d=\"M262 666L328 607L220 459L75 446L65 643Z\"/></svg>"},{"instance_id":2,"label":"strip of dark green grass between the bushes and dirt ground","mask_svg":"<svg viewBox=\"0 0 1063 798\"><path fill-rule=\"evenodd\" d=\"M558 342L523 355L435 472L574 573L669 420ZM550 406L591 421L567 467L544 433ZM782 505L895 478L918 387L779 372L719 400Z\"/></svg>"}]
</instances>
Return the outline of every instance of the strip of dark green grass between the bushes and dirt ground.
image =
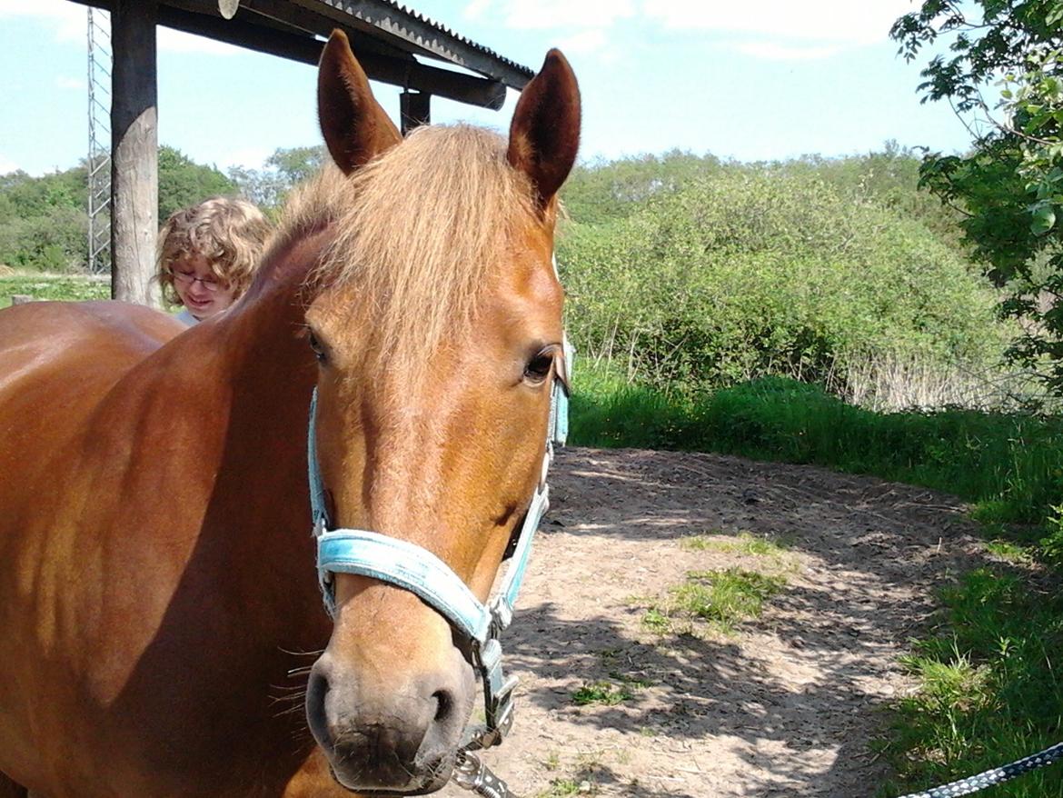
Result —
<instances>
[{"instance_id":1,"label":"strip of dark green grass between the bushes and dirt ground","mask_svg":"<svg viewBox=\"0 0 1063 798\"><path fill-rule=\"evenodd\" d=\"M1063 420L971 410L875 413L815 385L764 378L696 399L577 376L572 443L714 451L925 485L983 520L1041 523L1063 497Z\"/></svg>"}]
</instances>

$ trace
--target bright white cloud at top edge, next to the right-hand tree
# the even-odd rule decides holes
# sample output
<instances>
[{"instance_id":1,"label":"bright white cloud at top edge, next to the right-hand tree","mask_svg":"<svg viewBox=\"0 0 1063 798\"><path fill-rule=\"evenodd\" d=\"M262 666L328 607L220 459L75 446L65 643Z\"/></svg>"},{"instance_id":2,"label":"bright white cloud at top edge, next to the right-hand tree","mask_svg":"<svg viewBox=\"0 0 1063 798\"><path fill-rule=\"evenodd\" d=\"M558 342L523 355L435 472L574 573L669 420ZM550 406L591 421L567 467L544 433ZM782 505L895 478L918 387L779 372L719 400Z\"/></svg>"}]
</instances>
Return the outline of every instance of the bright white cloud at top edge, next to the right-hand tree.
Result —
<instances>
[{"instance_id":1,"label":"bright white cloud at top edge, next to the right-hand tree","mask_svg":"<svg viewBox=\"0 0 1063 798\"><path fill-rule=\"evenodd\" d=\"M670 30L697 29L758 34L781 39L812 39L846 45L885 40L890 27L912 11L911 0L645 0L643 13Z\"/></svg>"}]
</instances>

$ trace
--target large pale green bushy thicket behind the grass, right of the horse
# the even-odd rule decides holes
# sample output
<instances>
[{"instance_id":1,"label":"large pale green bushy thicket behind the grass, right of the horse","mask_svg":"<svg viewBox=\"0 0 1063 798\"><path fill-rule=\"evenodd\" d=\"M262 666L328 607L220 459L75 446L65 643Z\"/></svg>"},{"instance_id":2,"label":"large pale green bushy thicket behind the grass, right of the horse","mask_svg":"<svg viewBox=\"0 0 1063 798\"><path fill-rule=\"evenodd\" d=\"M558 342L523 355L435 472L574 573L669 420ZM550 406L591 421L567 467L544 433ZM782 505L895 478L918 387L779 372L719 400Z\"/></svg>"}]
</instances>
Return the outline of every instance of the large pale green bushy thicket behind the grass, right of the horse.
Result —
<instances>
[{"instance_id":1,"label":"large pale green bushy thicket behind the grass, right of the horse","mask_svg":"<svg viewBox=\"0 0 1063 798\"><path fill-rule=\"evenodd\" d=\"M830 385L871 362L985 369L1008 331L921 159L741 164L673 152L577 168L558 260L585 358L697 393Z\"/></svg>"}]
</instances>

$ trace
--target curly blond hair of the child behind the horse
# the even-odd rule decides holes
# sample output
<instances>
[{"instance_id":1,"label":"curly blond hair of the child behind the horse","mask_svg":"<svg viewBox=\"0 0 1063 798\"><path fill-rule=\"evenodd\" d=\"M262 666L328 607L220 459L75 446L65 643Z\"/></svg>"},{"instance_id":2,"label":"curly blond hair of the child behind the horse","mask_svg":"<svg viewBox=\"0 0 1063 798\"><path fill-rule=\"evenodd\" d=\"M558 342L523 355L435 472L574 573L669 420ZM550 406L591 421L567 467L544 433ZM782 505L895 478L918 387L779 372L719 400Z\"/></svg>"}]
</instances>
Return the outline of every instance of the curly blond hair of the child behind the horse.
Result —
<instances>
[{"instance_id":1,"label":"curly blond hair of the child behind the horse","mask_svg":"<svg viewBox=\"0 0 1063 798\"><path fill-rule=\"evenodd\" d=\"M271 233L263 212L247 200L210 197L178 211L158 231L155 264L163 298L171 305L181 304L173 287L173 264L197 255L238 298L251 285Z\"/></svg>"}]
</instances>

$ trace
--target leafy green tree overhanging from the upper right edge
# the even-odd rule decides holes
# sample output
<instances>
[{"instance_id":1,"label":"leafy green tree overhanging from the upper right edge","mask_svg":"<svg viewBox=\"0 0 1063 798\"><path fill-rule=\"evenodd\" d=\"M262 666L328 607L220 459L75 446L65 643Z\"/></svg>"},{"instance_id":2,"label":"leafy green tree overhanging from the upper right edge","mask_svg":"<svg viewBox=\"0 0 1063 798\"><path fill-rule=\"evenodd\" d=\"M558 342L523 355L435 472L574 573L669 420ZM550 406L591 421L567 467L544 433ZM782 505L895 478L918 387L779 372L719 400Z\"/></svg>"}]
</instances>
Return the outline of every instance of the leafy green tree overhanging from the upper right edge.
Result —
<instances>
[{"instance_id":1,"label":"leafy green tree overhanging from the upper right edge","mask_svg":"<svg viewBox=\"0 0 1063 798\"><path fill-rule=\"evenodd\" d=\"M1001 312L1024 321L1010 354L1063 394L1063 0L925 0L892 36L910 61L947 43L918 90L948 100L974 142L928 154L921 183L964 214Z\"/></svg>"}]
</instances>

